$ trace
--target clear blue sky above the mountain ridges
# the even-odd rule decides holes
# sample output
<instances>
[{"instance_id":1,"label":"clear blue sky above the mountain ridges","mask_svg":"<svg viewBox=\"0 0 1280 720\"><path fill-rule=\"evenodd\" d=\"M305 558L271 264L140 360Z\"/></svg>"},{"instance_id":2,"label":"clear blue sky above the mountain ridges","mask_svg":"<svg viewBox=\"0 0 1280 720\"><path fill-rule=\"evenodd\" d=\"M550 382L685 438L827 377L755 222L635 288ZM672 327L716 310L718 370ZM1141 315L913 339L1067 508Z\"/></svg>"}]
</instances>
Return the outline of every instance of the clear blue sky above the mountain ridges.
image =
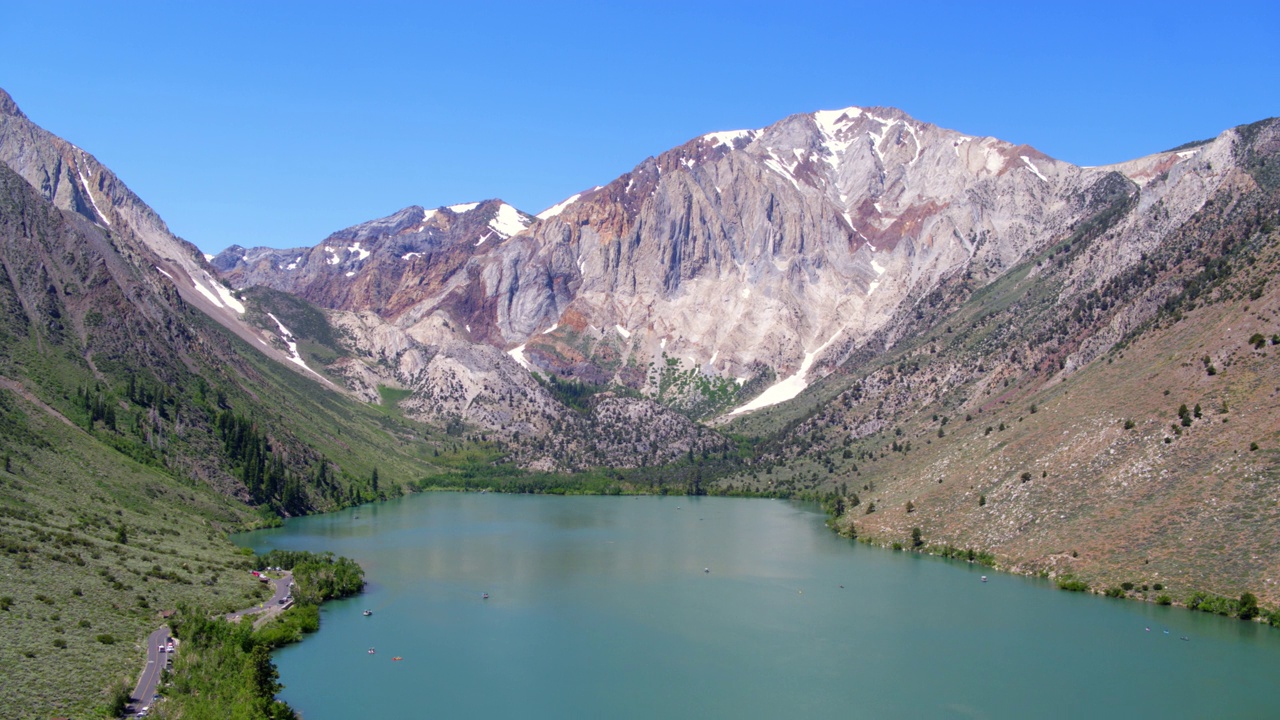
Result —
<instances>
[{"instance_id":1,"label":"clear blue sky above the mountain ridges","mask_svg":"<svg viewBox=\"0 0 1280 720\"><path fill-rule=\"evenodd\" d=\"M1280 115L1280 3L5 0L0 87L205 251L538 213L644 158L892 105L1082 165Z\"/></svg>"}]
</instances>

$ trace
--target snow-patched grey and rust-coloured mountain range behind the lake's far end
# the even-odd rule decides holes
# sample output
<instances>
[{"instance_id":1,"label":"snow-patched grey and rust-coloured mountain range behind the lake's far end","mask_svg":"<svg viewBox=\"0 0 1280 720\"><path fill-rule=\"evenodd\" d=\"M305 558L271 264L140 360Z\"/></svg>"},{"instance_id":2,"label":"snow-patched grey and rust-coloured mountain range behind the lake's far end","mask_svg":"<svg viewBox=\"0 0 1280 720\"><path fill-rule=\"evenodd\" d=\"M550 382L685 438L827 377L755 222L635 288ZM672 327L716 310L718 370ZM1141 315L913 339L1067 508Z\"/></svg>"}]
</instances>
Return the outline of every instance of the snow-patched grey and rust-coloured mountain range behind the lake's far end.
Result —
<instances>
[{"instance_id":1,"label":"snow-patched grey and rust-coloured mountain range behind the lake's far end","mask_svg":"<svg viewBox=\"0 0 1280 720\"><path fill-rule=\"evenodd\" d=\"M375 355L370 336L390 328L428 345L445 333L713 419L794 397L882 333L892 343L906 309L1000 278L1139 184L1176 201L1121 243L1149 245L1221 182L1185 172L1220 145L1076 168L849 108L694 138L536 219L499 201L408 208L311 250L234 247L214 264L233 287L360 314L355 343ZM407 375L385 379L416 387Z\"/></svg>"}]
</instances>

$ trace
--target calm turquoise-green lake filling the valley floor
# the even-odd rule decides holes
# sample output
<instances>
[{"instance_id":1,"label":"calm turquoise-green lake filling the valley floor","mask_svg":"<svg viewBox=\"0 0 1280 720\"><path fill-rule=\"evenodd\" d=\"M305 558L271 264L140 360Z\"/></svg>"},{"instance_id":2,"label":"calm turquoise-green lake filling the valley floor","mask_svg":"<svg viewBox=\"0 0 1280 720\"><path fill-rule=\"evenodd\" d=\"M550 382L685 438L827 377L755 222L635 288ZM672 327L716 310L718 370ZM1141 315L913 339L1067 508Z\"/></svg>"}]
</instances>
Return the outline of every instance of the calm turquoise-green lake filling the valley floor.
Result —
<instances>
[{"instance_id":1,"label":"calm turquoise-green lake filling the valley floor","mask_svg":"<svg viewBox=\"0 0 1280 720\"><path fill-rule=\"evenodd\" d=\"M365 566L365 594L275 655L306 720L1280 716L1280 630L823 520L767 500L428 493L236 539Z\"/></svg>"}]
</instances>

